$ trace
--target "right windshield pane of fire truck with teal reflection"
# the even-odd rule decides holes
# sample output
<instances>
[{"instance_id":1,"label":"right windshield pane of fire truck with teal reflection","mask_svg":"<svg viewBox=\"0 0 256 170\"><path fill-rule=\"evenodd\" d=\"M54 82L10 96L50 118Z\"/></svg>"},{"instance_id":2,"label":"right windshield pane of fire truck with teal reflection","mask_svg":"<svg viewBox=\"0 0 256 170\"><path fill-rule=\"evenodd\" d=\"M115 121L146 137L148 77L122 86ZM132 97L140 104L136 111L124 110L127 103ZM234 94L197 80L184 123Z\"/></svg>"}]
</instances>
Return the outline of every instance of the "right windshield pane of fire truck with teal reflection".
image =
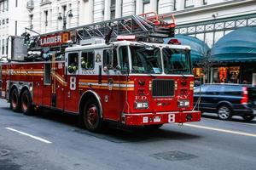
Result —
<instances>
[{"instance_id":1,"label":"right windshield pane of fire truck with teal reflection","mask_svg":"<svg viewBox=\"0 0 256 170\"><path fill-rule=\"evenodd\" d=\"M166 74L191 74L189 50L163 48Z\"/></svg>"}]
</instances>

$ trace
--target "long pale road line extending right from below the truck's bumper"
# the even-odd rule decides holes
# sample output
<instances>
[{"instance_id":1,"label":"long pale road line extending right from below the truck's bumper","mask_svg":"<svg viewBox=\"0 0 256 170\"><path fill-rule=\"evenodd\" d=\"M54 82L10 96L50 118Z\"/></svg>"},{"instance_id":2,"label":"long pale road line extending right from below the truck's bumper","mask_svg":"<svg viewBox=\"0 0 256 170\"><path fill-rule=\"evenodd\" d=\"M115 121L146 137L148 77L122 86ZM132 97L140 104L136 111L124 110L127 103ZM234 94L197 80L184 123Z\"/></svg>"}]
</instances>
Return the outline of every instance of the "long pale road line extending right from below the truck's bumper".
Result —
<instances>
[{"instance_id":1,"label":"long pale road line extending right from below the truck's bumper","mask_svg":"<svg viewBox=\"0 0 256 170\"><path fill-rule=\"evenodd\" d=\"M183 124L183 125L187 126L187 127L202 128L202 129L218 131L218 132L222 132L222 133L232 133L232 134L240 134L240 135L243 135L243 136L256 137L256 133L243 133L243 132L240 132L240 131L226 130L226 129L223 129L223 128L216 128L216 127L204 127L204 126L192 125L192 124Z\"/></svg>"}]
</instances>

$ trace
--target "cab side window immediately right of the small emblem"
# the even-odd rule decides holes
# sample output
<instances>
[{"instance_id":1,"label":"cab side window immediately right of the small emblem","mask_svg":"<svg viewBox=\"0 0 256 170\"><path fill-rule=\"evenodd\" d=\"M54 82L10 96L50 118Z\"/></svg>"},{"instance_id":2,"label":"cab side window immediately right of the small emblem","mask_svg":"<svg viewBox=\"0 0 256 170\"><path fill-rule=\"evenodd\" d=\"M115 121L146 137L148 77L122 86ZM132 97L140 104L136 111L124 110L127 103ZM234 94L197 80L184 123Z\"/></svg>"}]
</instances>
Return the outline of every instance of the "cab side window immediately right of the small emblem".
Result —
<instances>
[{"instance_id":1,"label":"cab side window immediately right of the small emblem","mask_svg":"<svg viewBox=\"0 0 256 170\"><path fill-rule=\"evenodd\" d=\"M116 68L118 65L117 52L115 48L103 50L103 66L108 69Z\"/></svg>"}]
</instances>

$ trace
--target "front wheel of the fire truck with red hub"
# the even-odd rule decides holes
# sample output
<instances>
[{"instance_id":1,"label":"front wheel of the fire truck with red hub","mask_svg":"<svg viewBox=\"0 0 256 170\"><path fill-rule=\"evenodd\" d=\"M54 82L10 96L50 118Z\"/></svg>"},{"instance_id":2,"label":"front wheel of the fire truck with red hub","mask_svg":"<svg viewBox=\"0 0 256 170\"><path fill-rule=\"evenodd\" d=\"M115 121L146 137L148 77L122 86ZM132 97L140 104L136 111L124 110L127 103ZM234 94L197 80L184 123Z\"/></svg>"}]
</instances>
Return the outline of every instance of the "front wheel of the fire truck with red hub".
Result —
<instances>
[{"instance_id":1,"label":"front wheel of the fire truck with red hub","mask_svg":"<svg viewBox=\"0 0 256 170\"><path fill-rule=\"evenodd\" d=\"M91 132L102 132L104 122L101 117L100 106L96 99L89 99L84 105L81 115L82 123Z\"/></svg>"}]
</instances>

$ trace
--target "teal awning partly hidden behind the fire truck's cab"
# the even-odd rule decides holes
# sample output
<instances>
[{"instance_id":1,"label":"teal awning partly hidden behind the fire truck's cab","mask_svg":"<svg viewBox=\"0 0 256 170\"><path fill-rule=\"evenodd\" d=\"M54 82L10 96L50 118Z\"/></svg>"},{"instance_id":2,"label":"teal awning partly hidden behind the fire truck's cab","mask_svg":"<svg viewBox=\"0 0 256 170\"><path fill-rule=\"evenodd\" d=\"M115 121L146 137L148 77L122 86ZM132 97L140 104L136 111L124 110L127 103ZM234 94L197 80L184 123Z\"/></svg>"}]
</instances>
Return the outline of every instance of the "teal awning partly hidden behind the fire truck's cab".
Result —
<instances>
[{"instance_id":1,"label":"teal awning partly hidden behind the fire truck's cab","mask_svg":"<svg viewBox=\"0 0 256 170\"><path fill-rule=\"evenodd\" d=\"M207 55L209 47L207 44L196 37L190 37L185 35L176 35L172 38L165 38L164 43L168 43L171 39L177 39L182 45L189 45L191 48L192 63L200 61Z\"/></svg>"}]
</instances>

